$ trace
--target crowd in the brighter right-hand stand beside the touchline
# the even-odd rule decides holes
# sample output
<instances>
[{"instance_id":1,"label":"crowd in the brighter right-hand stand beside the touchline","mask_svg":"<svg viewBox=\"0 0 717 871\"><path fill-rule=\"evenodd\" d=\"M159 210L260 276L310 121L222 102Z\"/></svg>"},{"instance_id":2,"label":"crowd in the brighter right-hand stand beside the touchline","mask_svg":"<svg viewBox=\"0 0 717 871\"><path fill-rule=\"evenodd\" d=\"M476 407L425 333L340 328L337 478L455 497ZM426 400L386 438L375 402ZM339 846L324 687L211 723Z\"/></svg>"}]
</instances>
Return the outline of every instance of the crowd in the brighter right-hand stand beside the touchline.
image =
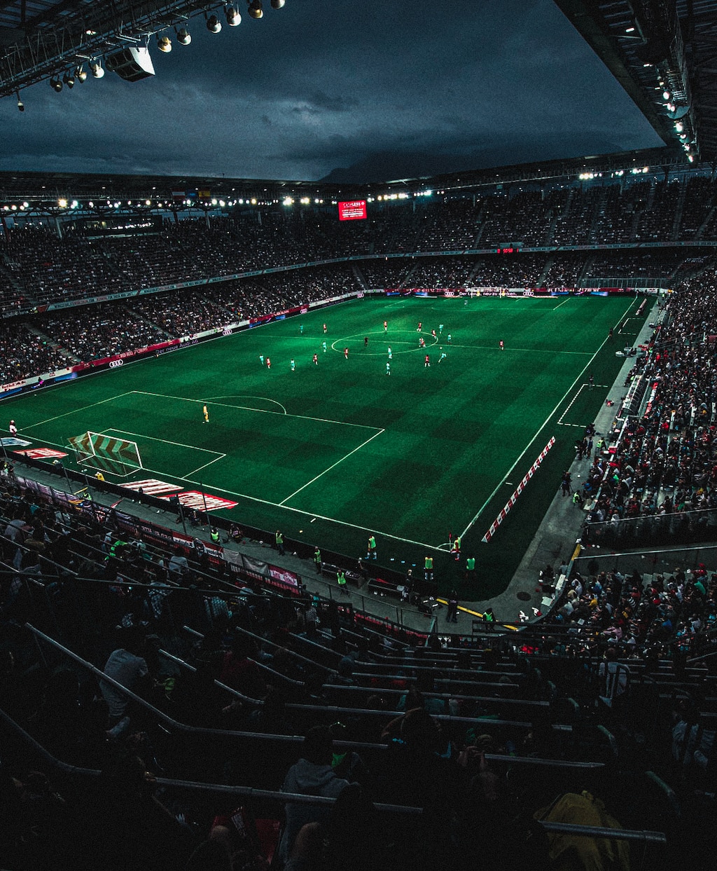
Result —
<instances>
[{"instance_id":1,"label":"crowd in the brighter right-hand stand beside the touchline","mask_svg":"<svg viewBox=\"0 0 717 871\"><path fill-rule=\"evenodd\" d=\"M627 416L613 445L593 459L587 486L596 499L590 516L596 536L627 538L635 524L620 522L637 517L655 518L654 535L668 528L687 535L694 524L714 528L716 301L714 272L685 282L647 353L636 358L626 386L642 379L649 402L644 413ZM667 523L668 516L677 517Z\"/></svg>"}]
</instances>

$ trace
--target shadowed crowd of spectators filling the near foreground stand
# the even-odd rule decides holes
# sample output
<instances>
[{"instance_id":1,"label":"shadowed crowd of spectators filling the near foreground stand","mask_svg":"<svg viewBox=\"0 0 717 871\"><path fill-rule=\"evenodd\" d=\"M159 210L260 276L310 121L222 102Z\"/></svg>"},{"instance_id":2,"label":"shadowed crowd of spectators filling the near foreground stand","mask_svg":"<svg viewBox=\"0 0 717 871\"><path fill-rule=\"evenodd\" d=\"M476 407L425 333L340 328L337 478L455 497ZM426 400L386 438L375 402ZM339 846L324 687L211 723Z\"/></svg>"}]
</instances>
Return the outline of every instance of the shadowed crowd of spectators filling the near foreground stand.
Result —
<instances>
[{"instance_id":1,"label":"shadowed crowd of spectators filling the near foreground stand","mask_svg":"<svg viewBox=\"0 0 717 871\"><path fill-rule=\"evenodd\" d=\"M337 625L312 595L285 599L255 581L228 587L200 545L172 554L123 534L111 514L100 522L23 491L7 468L0 483L0 562L9 570L0 584L0 708L56 758L100 772L88 780L46 760L30 766L28 746L6 730L17 751L0 769L10 867L265 871L276 853L272 867L288 871L467 871L478 838L491 846L481 867L547 869L554 845L531 840L533 814L550 816L554 800L577 801L586 788L623 825L669 823L649 780L639 787L614 763L600 768L612 751L593 710L620 660L633 675L664 672L667 660L670 676L694 679L686 654L700 649L695 639L705 640L709 625L698 601L717 599L717 577L701 568L664 578L573 572L553 622L517 645L459 648L432 635L416 647L348 618ZM104 675L58 653L25 621ZM616 695L629 692L627 679L618 683ZM581 693L585 712L566 726L562 699ZM168 732L163 716L200 731ZM655 757L694 719L675 724L668 706L649 747ZM627 715L624 725L636 727ZM303 743L288 737L300 732ZM698 767L711 753L704 735L699 745ZM553 767L531 765L539 760ZM598 770L572 768L576 761ZM665 776L684 766L681 755L654 762ZM635 760L628 752L621 764L629 771ZM171 780L337 802L289 804L285 814L265 802L260 813L241 797L173 789ZM381 803L422 813L396 817ZM569 821L607 824L585 814L573 808ZM573 861L601 867L580 864L588 861L581 854Z\"/></svg>"}]
</instances>

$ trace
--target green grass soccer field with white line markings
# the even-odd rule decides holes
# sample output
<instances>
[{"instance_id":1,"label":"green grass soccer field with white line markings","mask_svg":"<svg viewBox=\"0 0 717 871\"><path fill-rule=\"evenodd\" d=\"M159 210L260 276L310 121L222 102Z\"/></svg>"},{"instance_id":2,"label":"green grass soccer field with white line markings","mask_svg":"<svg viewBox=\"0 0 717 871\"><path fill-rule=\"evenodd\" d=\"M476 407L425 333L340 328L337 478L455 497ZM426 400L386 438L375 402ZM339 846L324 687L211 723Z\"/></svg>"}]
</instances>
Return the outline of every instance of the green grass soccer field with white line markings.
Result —
<instances>
[{"instance_id":1,"label":"green grass soccer field with white line markings","mask_svg":"<svg viewBox=\"0 0 717 871\"><path fill-rule=\"evenodd\" d=\"M238 504L219 513L240 524L352 557L373 533L379 564L398 570L438 551L446 583L453 570L440 551L462 534L486 598L510 581L576 438L605 402L622 364L615 351L642 326L639 304L352 300L22 395L5 415L33 447L66 448L88 430L136 442L143 469L109 480L152 477L225 496ZM481 544L552 436L545 463Z\"/></svg>"}]
</instances>

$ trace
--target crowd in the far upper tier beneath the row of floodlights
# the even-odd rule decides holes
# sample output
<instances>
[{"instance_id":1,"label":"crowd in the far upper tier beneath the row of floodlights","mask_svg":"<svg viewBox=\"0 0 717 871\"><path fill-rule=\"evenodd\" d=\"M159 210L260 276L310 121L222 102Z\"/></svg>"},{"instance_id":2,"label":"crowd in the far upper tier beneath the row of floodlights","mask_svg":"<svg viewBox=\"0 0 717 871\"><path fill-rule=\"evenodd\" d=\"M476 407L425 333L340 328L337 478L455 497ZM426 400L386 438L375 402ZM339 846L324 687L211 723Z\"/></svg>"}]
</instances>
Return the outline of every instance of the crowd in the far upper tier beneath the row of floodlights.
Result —
<instances>
[{"instance_id":1,"label":"crowd in the far upper tier beneath the row of floodlights","mask_svg":"<svg viewBox=\"0 0 717 871\"><path fill-rule=\"evenodd\" d=\"M133 236L17 226L0 240L0 299L37 305L357 255L710 240L713 202L711 179L655 176L374 202L365 221L338 221L325 204L278 204L167 220Z\"/></svg>"}]
</instances>

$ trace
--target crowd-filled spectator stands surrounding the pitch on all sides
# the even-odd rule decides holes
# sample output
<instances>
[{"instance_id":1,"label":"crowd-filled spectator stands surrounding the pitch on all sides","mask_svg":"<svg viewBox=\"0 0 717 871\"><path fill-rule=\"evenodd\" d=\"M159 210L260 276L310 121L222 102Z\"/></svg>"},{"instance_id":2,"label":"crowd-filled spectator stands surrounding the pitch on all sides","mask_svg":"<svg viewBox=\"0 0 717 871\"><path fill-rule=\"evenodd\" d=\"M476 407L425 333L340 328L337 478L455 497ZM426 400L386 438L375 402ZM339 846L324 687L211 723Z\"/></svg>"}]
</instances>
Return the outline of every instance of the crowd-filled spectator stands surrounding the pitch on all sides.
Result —
<instances>
[{"instance_id":1,"label":"crowd-filled spectator stands surrounding the pitch on all sides","mask_svg":"<svg viewBox=\"0 0 717 871\"><path fill-rule=\"evenodd\" d=\"M321 213L271 211L261 224L181 221L142 240L13 230L3 299L38 305L350 253L696 240L709 232L712 196L708 179L495 193L445 210L391 206L352 236ZM566 849L581 834L596 854L611 851L612 866L602 857L593 867L703 867L714 827L717 564L686 553L649 571L638 557L658 541L714 540L710 262L689 247L377 258L0 323L12 381L362 287L680 276L634 359L635 408L626 400L594 456L580 452L584 556L557 583L545 579L560 587L553 610L519 632L439 633L418 611L418 628L395 625L326 598L302 568L308 553L272 551L301 584L271 586L239 569L259 547L251 533L222 529L220 558L200 525L177 550L169 533L130 529L108 507L111 488L70 496L70 476L65 488L47 464L6 460L3 863L522 871L553 867L553 829L579 819L604 837L573 828ZM149 497L131 512L173 526L160 504L161 519ZM601 562L598 544L637 556L625 570Z\"/></svg>"}]
</instances>

